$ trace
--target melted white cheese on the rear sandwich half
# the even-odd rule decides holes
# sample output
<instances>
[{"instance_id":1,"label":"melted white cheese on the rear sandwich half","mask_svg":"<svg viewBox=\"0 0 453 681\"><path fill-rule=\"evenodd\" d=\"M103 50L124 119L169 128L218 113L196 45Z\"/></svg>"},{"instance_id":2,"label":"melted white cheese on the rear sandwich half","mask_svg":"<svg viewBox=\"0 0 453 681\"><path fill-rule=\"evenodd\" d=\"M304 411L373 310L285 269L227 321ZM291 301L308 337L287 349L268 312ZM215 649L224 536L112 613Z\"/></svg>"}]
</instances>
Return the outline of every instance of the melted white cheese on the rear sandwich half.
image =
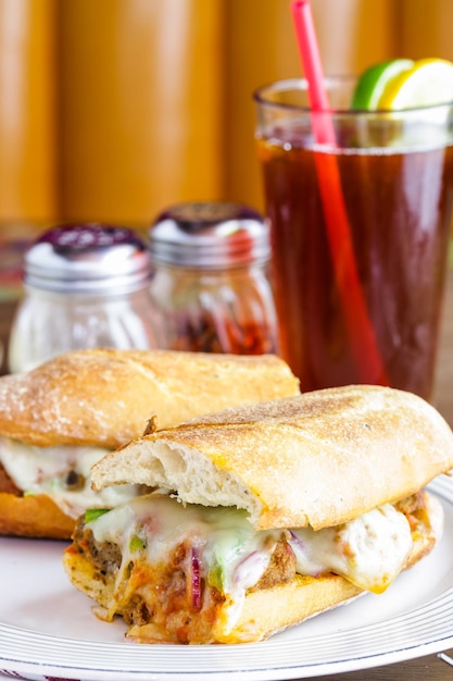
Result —
<instances>
[{"instance_id":1,"label":"melted white cheese on the rear sandwich half","mask_svg":"<svg viewBox=\"0 0 453 681\"><path fill-rule=\"evenodd\" d=\"M137 496L137 485L91 490L91 467L105 454L106 449L97 447L35 447L0 438L0 461L16 487L24 494L46 494L72 518L87 508L113 508ZM66 486L71 471L85 479L79 490Z\"/></svg>"}]
</instances>

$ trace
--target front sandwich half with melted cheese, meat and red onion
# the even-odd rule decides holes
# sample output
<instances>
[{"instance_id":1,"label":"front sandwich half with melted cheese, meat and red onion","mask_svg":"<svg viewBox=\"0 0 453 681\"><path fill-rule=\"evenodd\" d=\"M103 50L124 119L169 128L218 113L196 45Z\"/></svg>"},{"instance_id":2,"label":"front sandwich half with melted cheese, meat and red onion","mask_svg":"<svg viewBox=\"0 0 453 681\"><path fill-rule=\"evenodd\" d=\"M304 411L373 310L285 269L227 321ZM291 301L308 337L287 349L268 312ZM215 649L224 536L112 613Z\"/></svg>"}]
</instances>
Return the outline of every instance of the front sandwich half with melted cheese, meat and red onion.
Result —
<instances>
[{"instance_id":1,"label":"front sandwich half with melted cheese, meat and red onion","mask_svg":"<svg viewBox=\"0 0 453 681\"><path fill-rule=\"evenodd\" d=\"M370 591L427 555L453 468L426 401L347 386L227 409L109 454L97 488L152 488L88 511L64 553L72 583L141 643L266 639Z\"/></svg>"}]
</instances>

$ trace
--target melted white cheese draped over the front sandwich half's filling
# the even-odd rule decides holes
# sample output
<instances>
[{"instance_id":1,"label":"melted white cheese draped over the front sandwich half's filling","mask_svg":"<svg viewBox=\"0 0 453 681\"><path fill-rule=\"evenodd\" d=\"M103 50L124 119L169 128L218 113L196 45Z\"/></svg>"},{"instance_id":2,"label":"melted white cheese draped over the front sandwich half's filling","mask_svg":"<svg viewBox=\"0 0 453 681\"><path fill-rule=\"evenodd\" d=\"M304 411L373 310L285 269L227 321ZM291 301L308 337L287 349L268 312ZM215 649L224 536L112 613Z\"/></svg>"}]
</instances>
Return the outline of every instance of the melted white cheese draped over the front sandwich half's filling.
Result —
<instances>
[{"instance_id":1,"label":"melted white cheese draped over the front sandwich half's filling","mask_svg":"<svg viewBox=\"0 0 453 681\"><path fill-rule=\"evenodd\" d=\"M146 552L147 561L156 565L168 562L183 542L197 547L201 577L221 585L230 603L230 627L247 590L260 581L282 536L295 554L299 573L336 572L375 592L383 591L401 572L412 547L406 518L390 505L317 532L255 532L243 510L183 505L175 498L151 494L113 509L88 527L98 542L114 542L121 547L117 584L137 550Z\"/></svg>"}]
</instances>

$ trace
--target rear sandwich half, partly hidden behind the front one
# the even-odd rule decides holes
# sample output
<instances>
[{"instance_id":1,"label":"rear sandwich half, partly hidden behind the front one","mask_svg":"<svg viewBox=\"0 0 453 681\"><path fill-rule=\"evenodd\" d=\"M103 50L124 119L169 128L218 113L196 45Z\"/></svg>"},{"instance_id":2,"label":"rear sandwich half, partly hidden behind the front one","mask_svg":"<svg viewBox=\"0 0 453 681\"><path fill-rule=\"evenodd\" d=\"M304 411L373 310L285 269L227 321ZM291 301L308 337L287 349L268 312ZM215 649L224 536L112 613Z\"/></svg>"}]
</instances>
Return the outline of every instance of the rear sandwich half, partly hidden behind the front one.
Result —
<instances>
[{"instance_id":1,"label":"rear sandwich half, partly hidden behind the front one","mask_svg":"<svg viewBox=\"0 0 453 681\"><path fill-rule=\"evenodd\" d=\"M143 492L130 483L95 492L90 470L155 421L166 426L298 393L298 380L272 355L76 350L3 376L0 534L70 538L86 508Z\"/></svg>"}]
</instances>

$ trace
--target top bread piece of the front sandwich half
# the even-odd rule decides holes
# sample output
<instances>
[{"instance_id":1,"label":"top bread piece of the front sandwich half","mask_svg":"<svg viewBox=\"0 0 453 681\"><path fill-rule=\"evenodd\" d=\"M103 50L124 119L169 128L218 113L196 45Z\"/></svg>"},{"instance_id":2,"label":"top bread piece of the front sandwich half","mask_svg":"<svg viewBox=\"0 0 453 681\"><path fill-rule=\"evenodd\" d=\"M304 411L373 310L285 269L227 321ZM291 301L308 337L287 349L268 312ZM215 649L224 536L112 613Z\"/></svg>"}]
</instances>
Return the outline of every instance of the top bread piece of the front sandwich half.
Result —
<instances>
[{"instance_id":1,"label":"top bread piece of the front sandwich half","mask_svg":"<svg viewBox=\"0 0 453 681\"><path fill-rule=\"evenodd\" d=\"M201 417L106 455L97 487L122 482L246 508L259 530L345 522L453 468L453 434L428 403L379 386L306 393Z\"/></svg>"}]
</instances>

